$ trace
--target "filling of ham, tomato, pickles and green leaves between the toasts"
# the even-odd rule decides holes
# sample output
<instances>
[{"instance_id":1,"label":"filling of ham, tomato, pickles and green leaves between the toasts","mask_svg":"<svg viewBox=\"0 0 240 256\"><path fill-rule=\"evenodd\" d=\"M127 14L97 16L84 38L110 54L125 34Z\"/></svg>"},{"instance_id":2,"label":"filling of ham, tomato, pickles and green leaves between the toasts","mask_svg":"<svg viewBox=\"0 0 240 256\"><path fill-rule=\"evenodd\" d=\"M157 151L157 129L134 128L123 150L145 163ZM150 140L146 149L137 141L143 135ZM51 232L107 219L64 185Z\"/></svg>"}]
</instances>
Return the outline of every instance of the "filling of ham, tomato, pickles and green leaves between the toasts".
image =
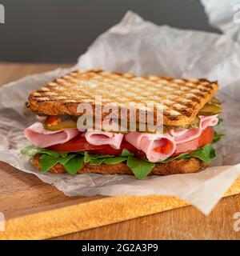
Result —
<instances>
[{"instance_id":1,"label":"filling of ham, tomato, pickles and green leaves between the toasts","mask_svg":"<svg viewBox=\"0 0 240 256\"><path fill-rule=\"evenodd\" d=\"M210 163L215 156L211 143L222 135L213 130L219 123L221 108L216 104L218 110L215 108L214 111L208 105L210 103L199 112L198 122L191 129L164 127L162 134L81 130L76 128L73 118L62 120L60 116L38 116L38 122L25 130L26 138L34 146L26 147L22 154L41 154L43 172L58 162L70 174L77 173L86 162L93 165L126 162L136 178L145 178L155 164L174 159L194 157Z\"/></svg>"}]
</instances>

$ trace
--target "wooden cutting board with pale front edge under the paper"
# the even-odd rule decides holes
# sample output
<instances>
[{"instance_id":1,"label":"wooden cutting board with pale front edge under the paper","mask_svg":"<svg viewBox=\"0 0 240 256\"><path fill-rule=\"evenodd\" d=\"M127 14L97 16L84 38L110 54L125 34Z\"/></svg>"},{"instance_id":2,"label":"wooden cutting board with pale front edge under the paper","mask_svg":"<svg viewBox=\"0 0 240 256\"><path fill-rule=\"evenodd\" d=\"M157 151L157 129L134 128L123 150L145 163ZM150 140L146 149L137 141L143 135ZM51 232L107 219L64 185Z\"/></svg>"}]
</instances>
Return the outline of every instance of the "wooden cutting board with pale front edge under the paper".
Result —
<instances>
[{"instance_id":1,"label":"wooden cutting board with pale front edge under the paper","mask_svg":"<svg viewBox=\"0 0 240 256\"><path fill-rule=\"evenodd\" d=\"M0 162L1 239L44 239L188 206L170 196L68 198L54 186ZM240 193L240 178L226 196Z\"/></svg>"}]
</instances>

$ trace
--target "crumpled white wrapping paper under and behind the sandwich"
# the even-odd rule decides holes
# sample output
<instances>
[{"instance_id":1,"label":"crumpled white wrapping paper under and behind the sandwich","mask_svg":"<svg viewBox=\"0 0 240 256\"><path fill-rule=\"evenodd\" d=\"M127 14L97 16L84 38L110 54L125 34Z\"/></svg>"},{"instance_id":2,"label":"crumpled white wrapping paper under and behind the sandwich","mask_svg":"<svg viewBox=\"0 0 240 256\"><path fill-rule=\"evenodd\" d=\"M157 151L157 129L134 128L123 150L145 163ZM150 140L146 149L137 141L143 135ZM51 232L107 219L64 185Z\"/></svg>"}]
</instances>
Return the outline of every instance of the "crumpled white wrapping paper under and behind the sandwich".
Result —
<instances>
[{"instance_id":1,"label":"crumpled white wrapping paper under and behind the sandwich","mask_svg":"<svg viewBox=\"0 0 240 256\"><path fill-rule=\"evenodd\" d=\"M24 103L31 90L69 70L35 74L0 90L0 160L37 175L68 196L170 194L209 214L240 174L240 46L225 35L156 26L128 12L118 25L97 38L78 59L77 66L140 75L218 79L218 97L225 109L218 131L226 136L218 143L218 158L212 167L198 174L151 176L141 181L130 175L71 176L35 170L29 158L19 153L29 144L23 130L34 122L34 114L24 108Z\"/></svg>"}]
</instances>

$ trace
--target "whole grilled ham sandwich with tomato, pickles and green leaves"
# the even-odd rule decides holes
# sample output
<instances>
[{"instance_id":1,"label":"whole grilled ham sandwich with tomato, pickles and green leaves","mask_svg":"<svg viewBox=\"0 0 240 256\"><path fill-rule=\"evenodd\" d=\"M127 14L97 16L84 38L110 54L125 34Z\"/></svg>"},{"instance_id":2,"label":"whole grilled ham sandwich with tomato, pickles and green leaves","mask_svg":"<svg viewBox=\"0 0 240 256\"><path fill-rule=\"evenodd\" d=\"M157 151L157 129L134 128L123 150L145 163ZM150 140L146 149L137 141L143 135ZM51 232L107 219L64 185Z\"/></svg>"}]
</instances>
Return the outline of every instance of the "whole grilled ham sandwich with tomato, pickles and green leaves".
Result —
<instances>
[{"instance_id":1,"label":"whole grilled ham sandwich with tomato, pickles and green leaves","mask_svg":"<svg viewBox=\"0 0 240 256\"><path fill-rule=\"evenodd\" d=\"M31 145L21 153L42 173L142 179L198 172L214 159L212 144L222 136L214 131L222 112L217 90L218 82L204 78L76 70L30 94L26 106L38 120L26 128ZM91 111L79 110L86 105Z\"/></svg>"}]
</instances>

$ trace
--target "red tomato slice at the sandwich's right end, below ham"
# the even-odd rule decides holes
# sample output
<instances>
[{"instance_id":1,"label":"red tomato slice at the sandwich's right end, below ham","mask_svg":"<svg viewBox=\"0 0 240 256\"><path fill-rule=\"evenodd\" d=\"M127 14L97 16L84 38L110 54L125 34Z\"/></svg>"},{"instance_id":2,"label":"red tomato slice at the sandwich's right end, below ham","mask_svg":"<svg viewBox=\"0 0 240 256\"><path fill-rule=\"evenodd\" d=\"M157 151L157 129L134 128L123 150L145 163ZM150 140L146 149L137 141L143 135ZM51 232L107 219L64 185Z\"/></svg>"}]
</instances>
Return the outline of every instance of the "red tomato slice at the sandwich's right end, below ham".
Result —
<instances>
[{"instance_id":1,"label":"red tomato slice at the sandwich's right end, below ham","mask_svg":"<svg viewBox=\"0 0 240 256\"><path fill-rule=\"evenodd\" d=\"M214 129L208 126L206 127L205 130L202 131L202 134L198 138L194 138L190 142L184 142L184 143L178 144L172 156L198 150L202 146L205 146L206 144L212 142L213 139L214 139Z\"/></svg>"}]
</instances>

